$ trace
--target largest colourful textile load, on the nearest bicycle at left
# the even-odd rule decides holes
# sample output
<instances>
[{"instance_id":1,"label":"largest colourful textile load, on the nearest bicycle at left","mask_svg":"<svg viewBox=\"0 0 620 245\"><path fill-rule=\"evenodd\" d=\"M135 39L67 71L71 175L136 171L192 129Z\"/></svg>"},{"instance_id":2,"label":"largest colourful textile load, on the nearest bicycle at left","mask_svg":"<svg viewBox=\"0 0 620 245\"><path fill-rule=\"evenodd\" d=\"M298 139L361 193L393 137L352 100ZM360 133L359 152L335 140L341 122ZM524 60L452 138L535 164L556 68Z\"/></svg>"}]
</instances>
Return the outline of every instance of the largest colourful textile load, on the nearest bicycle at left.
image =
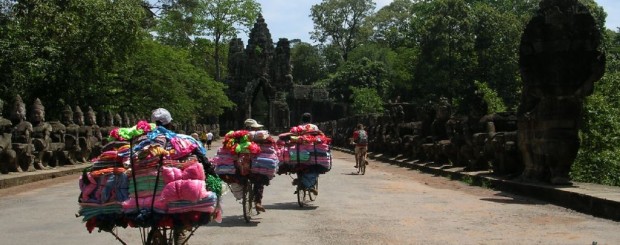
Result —
<instances>
[{"instance_id":1,"label":"largest colourful textile load, on the nearest bicycle at left","mask_svg":"<svg viewBox=\"0 0 620 245\"><path fill-rule=\"evenodd\" d=\"M217 176L206 178L193 155L206 150L194 138L145 121L112 130L110 138L138 143L103 152L80 178L79 213L89 232L95 227L189 227L212 217L221 221L222 183Z\"/></svg>"}]
</instances>

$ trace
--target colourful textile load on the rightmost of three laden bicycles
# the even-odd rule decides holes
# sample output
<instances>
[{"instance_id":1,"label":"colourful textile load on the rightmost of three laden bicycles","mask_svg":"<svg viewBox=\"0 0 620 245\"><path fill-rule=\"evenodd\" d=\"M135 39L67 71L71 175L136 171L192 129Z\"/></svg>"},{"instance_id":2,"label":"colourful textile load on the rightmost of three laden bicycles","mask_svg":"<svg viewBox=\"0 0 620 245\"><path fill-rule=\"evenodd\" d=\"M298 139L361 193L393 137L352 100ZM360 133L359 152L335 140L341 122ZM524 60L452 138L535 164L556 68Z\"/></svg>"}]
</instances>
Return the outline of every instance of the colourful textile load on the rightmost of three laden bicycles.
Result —
<instances>
[{"instance_id":1,"label":"colourful textile load on the rightmost of three laden bicycles","mask_svg":"<svg viewBox=\"0 0 620 245\"><path fill-rule=\"evenodd\" d=\"M278 142L281 151L278 174L296 173L308 168L315 168L320 173L331 170L331 138L318 129L308 128L308 125L293 127L291 133L281 135L287 140Z\"/></svg>"}]
</instances>

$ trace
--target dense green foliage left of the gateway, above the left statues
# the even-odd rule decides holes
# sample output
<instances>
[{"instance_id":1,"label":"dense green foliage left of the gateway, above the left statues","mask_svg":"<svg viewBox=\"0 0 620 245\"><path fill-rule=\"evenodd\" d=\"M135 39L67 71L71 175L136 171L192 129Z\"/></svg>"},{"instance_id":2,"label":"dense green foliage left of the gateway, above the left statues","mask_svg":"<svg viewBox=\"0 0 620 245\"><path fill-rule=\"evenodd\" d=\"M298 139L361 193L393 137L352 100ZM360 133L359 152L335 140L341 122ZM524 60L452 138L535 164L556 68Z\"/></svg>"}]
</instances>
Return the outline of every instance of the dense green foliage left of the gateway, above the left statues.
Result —
<instances>
[{"instance_id":1,"label":"dense green foliage left of the gateway, above the left statues","mask_svg":"<svg viewBox=\"0 0 620 245\"><path fill-rule=\"evenodd\" d=\"M157 3L1 0L0 98L40 98L48 119L64 105L138 115L167 107L179 121L222 114L232 103L206 62L217 45L196 38L209 28L196 18L203 5Z\"/></svg>"}]
</instances>

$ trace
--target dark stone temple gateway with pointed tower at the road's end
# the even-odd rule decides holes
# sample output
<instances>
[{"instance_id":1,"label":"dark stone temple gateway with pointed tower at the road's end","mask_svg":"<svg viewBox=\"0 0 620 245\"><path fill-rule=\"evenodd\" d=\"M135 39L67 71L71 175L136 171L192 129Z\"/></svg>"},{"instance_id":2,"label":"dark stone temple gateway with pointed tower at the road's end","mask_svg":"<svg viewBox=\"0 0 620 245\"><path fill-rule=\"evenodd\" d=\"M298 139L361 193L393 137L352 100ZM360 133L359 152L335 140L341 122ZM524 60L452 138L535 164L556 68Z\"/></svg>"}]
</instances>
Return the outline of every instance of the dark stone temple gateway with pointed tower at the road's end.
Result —
<instances>
[{"instance_id":1,"label":"dark stone temple gateway with pointed tower at the road's end","mask_svg":"<svg viewBox=\"0 0 620 245\"><path fill-rule=\"evenodd\" d=\"M248 45L235 38L228 52L229 98L237 105L228 111L220 124L224 129L238 129L247 118L254 118L271 130L290 126L286 101L293 88L290 43L280 38L275 45L262 15L250 32Z\"/></svg>"}]
</instances>

